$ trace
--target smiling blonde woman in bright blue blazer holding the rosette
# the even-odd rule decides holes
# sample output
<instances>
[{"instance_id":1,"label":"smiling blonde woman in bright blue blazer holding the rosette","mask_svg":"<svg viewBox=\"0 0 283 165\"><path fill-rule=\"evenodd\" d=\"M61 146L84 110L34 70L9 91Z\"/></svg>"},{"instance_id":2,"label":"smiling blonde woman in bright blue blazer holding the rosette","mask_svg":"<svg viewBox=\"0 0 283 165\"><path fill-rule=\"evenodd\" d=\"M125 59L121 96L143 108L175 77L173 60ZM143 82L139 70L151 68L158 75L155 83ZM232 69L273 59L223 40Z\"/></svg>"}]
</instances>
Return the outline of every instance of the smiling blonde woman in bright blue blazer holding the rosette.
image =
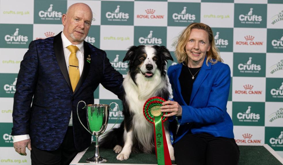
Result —
<instances>
[{"instance_id":1,"label":"smiling blonde woman in bright blue blazer holding the rosette","mask_svg":"<svg viewBox=\"0 0 283 165\"><path fill-rule=\"evenodd\" d=\"M211 28L192 23L176 46L179 64L168 69L175 101L165 101L161 111L180 123L174 141L178 165L238 164L239 148L226 111L230 68L217 51Z\"/></svg>"}]
</instances>

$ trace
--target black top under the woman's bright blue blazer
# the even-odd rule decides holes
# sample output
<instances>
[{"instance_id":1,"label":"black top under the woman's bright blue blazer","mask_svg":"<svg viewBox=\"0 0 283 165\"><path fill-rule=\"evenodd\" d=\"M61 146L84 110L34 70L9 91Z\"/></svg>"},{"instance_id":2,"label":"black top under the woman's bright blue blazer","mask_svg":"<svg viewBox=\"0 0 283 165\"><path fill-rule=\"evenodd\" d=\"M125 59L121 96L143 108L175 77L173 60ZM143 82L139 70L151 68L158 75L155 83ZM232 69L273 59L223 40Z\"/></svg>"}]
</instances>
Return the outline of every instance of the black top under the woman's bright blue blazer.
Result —
<instances>
[{"instance_id":1,"label":"black top under the woman's bright blue blazer","mask_svg":"<svg viewBox=\"0 0 283 165\"><path fill-rule=\"evenodd\" d=\"M190 99L191 99L191 94L192 94L192 89L193 89L193 83L196 80L196 76L198 75L201 67L199 68L188 68L188 66L183 65L182 66L182 71L179 77L179 82L181 86L181 94L186 102L187 105L190 105ZM192 74L190 73L192 72ZM195 75L196 74L196 75ZM194 79L192 79L192 75L194 75Z\"/></svg>"}]
</instances>

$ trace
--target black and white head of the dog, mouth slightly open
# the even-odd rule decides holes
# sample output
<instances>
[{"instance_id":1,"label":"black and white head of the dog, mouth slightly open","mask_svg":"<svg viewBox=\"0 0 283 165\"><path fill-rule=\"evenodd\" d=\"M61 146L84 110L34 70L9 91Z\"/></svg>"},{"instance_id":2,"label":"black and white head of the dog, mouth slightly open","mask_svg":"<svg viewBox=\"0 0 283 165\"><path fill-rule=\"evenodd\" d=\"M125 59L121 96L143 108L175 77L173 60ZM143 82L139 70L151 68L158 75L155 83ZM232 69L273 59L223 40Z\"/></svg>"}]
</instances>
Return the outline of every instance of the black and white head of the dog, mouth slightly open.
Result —
<instances>
[{"instance_id":1,"label":"black and white head of the dog, mouth slightly open","mask_svg":"<svg viewBox=\"0 0 283 165\"><path fill-rule=\"evenodd\" d=\"M161 75L166 74L167 60L172 60L169 50L165 46L131 46L123 62L129 61L129 72L135 82L136 74L143 74L145 78L152 78L158 69Z\"/></svg>"}]
</instances>

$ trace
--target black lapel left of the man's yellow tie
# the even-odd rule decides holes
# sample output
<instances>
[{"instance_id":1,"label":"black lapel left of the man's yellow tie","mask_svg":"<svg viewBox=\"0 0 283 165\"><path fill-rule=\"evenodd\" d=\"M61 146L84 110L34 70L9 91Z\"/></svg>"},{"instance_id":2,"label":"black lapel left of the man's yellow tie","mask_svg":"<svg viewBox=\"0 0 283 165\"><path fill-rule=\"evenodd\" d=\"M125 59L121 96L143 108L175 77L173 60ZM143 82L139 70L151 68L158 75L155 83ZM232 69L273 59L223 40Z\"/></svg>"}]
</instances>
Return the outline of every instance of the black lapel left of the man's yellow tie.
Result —
<instances>
[{"instance_id":1,"label":"black lapel left of the man's yellow tie","mask_svg":"<svg viewBox=\"0 0 283 165\"><path fill-rule=\"evenodd\" d=\"M62 43L61 33L62 32L60 32L59 34L57 34L54 37L53 48L54 48L55 56L56 56L58 65L60 67L60 70L61 70L66 82L68 83L69 87L72 89L68 69L67 69L67 66L66 66L64 51L63 51L63 43Z\"/></svg>"}]
</instances>

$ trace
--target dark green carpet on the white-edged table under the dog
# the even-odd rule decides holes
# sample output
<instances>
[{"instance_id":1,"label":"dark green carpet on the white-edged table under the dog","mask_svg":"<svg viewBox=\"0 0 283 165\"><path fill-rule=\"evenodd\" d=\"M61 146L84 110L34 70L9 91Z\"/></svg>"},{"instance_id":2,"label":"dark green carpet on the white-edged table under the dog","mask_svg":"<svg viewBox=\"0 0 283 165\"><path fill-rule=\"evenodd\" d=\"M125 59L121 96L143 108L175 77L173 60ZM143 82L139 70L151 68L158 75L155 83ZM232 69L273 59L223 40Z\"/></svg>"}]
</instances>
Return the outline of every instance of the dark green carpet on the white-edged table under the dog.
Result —
<instances>
[{"instance_id":1,"label":"dark green carpet on the white-edged table under the dog","mask_svg":"<svg viewBox=\"0 0 283 165\"><path fill-rule=\"evenodd\" d=\"M238 165L282 165L265 147L263 146L239 146L240 160ZM93 157L95 152L95 143L92 143L85 152L79 163L85 163L87 158ZM107 158L107 163L113 164L157 164L155 154L131 153L128 160L117 160L112 149L99 148L99 155ZM172 164L175 164L172 161Z\"/></svg>"}]
</instances>

